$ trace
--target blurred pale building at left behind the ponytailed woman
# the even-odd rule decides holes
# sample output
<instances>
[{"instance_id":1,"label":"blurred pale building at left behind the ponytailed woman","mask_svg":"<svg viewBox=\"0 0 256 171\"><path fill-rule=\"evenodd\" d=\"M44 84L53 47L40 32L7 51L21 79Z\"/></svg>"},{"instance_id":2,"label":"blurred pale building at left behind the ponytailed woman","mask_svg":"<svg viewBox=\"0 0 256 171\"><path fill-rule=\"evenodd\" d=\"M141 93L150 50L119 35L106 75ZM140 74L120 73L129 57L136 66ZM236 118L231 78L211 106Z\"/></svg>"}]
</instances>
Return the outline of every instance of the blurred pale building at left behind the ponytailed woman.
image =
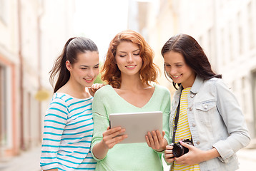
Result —
<instances>
[{"instance_id":1,"label":"blurred pale building at left behind the ponytailed woman","mask_svg":"<svg viewBox=\"0 0 256 171\"><path fill-rule=\"evenodd\" d=\"M72 0L0 0L0 162L41 144L49 70L72 35Z\"/></svg>"}]
</instances>

